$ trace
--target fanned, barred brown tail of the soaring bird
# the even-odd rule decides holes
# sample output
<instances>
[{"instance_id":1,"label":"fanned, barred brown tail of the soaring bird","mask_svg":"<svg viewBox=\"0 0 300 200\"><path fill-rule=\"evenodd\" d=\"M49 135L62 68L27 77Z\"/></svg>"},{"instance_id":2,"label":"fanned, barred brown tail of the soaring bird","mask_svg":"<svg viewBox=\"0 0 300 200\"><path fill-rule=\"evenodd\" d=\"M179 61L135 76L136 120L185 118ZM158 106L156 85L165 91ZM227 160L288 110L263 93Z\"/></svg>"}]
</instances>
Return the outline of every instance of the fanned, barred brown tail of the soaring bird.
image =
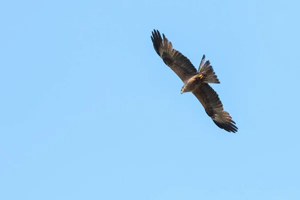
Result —
<instances>
[{"instance_id":1,"label":"fanned, barred brown tail of the soaring bird","mask_svg":"<svg viewBox=\"0 0 300 200\"><path fill-rule=\"evenodd\" d=\"M203 82L210 82L210 83L220 83L215 72L213 71L212 66L210 65L209 60L207 60L204 64L205 55L203 55L198 73L203 75Z\"/></svg>"}]
</instances>

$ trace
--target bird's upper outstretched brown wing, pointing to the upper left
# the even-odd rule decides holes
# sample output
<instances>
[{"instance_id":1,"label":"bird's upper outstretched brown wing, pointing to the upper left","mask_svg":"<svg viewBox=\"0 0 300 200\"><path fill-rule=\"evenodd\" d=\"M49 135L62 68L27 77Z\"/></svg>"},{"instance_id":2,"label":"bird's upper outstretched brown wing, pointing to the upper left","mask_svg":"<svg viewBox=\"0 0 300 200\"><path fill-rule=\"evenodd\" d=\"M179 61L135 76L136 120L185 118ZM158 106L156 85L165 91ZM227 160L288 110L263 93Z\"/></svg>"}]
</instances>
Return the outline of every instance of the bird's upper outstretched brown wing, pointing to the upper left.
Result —
<instances>
[{"instance_id":1,"label":"bird's upper outstretched brown wing, pointing to the upper left","mask_svg":"<svg viewBox=\"0 0 300 200\"><path fill-rule=\"evenodd\" d=\"M197 72L196 68L187 57L173 49L172 43L165 38L164 34L162 37L163 39L158 30L152 31L151 39L156 53L185 82Z\"/></svg>"}]
</instances>

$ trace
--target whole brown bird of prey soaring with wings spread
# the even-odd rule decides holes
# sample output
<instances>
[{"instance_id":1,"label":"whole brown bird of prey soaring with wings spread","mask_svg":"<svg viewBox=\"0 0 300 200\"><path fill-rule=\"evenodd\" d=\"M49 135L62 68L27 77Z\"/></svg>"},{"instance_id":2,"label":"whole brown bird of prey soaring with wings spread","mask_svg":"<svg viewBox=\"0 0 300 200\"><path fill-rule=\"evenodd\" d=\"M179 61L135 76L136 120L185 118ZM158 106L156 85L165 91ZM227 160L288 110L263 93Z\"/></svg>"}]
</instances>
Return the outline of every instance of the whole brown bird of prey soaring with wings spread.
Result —
<instances>
[{"instance_id":1,"label":"whole brown bird of prey soaring with wings spread","mask_svg":"<svg viewBox=\"0 0 300 200\"><path fill-rule=\"evenodd\" d=\"M151 39L156 53L183 81L180 93L192 92L203 105L213 122L228 132L236 132L237 127L228 112L223 109L218 94L208 83L220 83L209 60L203 55L198 70L187 57L173 49L172 43L158 30L153 30Z\"/></svg>"}]
</instances>

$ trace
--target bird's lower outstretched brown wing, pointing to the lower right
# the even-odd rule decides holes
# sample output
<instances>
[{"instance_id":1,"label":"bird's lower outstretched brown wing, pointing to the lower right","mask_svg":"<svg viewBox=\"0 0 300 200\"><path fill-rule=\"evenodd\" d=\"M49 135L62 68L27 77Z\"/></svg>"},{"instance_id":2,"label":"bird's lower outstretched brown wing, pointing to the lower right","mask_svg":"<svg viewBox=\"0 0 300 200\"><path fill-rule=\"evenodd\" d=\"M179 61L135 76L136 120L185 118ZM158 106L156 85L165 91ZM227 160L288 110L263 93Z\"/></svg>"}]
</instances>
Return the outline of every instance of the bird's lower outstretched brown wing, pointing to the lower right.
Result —
<instances>
[{"instance_id":1,"label":"bird's lower outstretched brown wing, pointing to the lower right","mask_svg":"<svg viewBox=\"0 0 300 200\"><path fill-rule=\"evenodd\" d=\"M236 132L237 127L228 112L223 109L223 104L217 93L208 83L201 83L197 89L192 91L203 105L208 116L220 128L228 132Z\"/></svg>"}]
</instances>

